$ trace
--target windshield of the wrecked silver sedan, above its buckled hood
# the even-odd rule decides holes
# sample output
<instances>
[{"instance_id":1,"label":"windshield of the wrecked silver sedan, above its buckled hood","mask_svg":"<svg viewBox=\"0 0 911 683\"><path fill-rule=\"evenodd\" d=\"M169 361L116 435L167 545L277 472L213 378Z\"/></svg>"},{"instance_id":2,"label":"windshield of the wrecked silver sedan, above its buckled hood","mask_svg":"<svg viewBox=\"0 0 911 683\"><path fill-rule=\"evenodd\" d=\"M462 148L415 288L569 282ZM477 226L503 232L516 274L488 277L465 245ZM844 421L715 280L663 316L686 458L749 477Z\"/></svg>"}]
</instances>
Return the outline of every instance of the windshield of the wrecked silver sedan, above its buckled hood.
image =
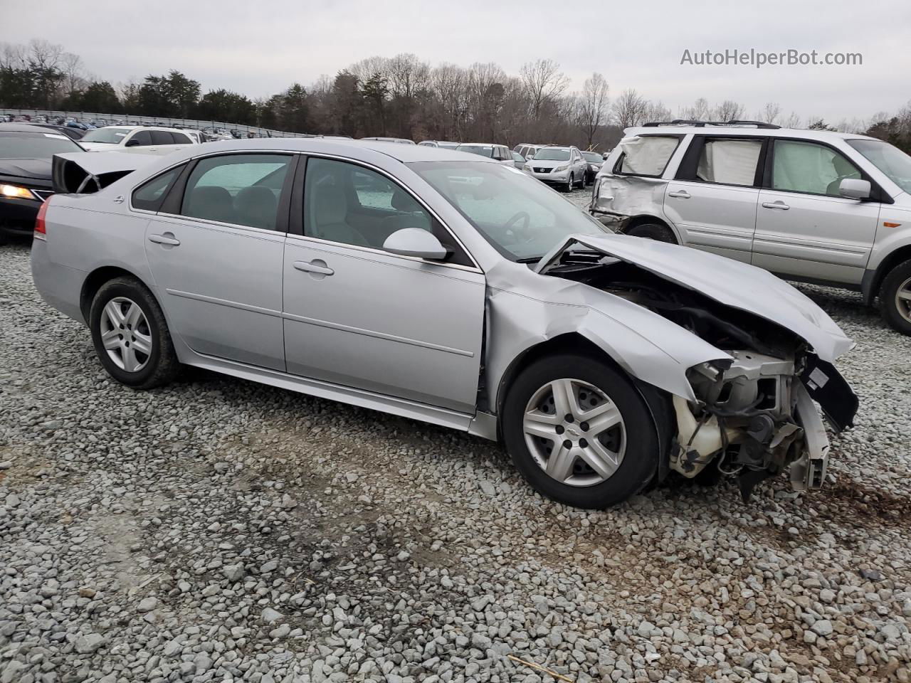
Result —
<instances>
[{"instance_id":1,"label":"windshield of the wrecked silver sedan, above its buckled hood","mask_svg":"<svg viewBox=\"0 0 911 683\"><path fill-rule=\"evenodd\" d=\"M573 233L608 232L515 167L472 161L410 164L509 260L539 260Z\"/></svg>"}]
</instances>

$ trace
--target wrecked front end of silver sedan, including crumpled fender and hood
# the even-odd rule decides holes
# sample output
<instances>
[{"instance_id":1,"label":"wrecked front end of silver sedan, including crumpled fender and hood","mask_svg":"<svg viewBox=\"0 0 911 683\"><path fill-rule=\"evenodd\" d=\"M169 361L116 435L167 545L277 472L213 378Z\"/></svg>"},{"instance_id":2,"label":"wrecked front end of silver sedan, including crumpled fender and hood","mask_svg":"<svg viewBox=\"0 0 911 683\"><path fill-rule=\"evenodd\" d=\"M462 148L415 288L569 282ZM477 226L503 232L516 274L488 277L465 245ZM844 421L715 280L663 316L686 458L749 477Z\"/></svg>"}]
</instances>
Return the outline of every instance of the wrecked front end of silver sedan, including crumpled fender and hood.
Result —
<instances>
[{"instance_id":1,"label":"wrecked front end of silver sedan, including crumpled fender and hood","mask_svg":"<svg viewBox=\"0 0 911 683\"><path fill-rule=\"evenodd\" d=\"M490 405L510 362L574 333L670 394L670 469L736 476L744 499L789 468L794 489L820 486L830 444L814 400L836 432L851 425L857 399L831 361L852 343L813 301L769 273L668 247L570 238L538 262L545 277L535 287L490 287L489 330L499 332L488 337Z\"/></svg>"}]
</instances>

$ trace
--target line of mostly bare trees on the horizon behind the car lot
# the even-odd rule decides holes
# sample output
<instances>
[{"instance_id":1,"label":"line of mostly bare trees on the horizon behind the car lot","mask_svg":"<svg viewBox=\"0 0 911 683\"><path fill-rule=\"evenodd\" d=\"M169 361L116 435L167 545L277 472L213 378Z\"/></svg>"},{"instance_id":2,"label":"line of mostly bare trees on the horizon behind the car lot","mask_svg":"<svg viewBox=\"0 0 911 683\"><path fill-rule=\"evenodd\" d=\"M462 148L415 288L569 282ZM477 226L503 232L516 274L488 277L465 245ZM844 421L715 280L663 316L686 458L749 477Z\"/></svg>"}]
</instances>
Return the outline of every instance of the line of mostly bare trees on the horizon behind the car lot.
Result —
<instances>
[{"instance_id":1,"label":"line of mostly bare trees on the horizon behind the car lot","mask_svg":"<svg viewBox=\"0 0 911 683\"><path fill-rule=\"evenodd\" d=\"M294 83L271 97L251 99L223 88L203 94L200 82L176 69L139 82L112 84L87 73L79 56L44 40L0 46L0 105L181 117L274 128L294 133L394 138L573 144L612 148L625 127L686 118L749 118L783 127L865 132L911 150L911 103L897 114L876 114L832 126L820 117L785 115L769 102L748 115L733 100L705 98L673 114L670 107L628 88L611 97L606 78L593 73L579 91L552 59L527 62L515 76L492 62L471 66L430 63L415 55L374 56L321 76L310 87Z\"/></svg>"}]
</instances>

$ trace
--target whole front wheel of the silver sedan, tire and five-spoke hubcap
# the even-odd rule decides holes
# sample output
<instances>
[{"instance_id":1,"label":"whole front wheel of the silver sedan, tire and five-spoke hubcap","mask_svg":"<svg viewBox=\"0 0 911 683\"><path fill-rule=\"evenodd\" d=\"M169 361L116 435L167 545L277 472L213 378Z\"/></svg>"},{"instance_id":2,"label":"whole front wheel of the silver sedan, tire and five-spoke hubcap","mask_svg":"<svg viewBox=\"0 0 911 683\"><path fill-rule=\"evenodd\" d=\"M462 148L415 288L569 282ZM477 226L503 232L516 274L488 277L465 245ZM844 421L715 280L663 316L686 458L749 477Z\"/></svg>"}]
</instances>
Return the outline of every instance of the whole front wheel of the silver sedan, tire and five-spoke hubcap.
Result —
<instances>
[{"instance_id":1,"label":"whole front wheel of the silver sedan, tire and five-spoke hubcap","mask_svg":"<svg viewBox=\"0 0 911 683\"><path fill-rule=\"evenodd\" d=\"M528 366L507 394L503 436L539 494L575 507L621 503L658 467L657 430L640 392L588 356L551 356Z\"/></svg>"}]
</instances>

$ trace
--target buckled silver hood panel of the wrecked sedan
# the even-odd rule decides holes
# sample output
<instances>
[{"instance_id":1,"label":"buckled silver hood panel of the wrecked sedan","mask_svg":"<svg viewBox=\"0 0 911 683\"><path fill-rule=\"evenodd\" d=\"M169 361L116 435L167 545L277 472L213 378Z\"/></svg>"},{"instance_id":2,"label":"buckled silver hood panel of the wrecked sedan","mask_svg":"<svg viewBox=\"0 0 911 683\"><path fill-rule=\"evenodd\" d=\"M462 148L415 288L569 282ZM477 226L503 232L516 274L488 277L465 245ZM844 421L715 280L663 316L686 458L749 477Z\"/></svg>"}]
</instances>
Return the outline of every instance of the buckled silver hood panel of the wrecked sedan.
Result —
<instances>
[{"instance_id":1,"label":"buckled silver hood panel of the wrecked sedan","mask_svg":"<svg viewBox=\"0 0 911 683\"><path fill-rule=\"evenodd\" d=\"M772 273L706 251L628 235L570 235L535 268L546 273L574 245L632 263L727 306L793 331L822 360L833 362L854 345L814 301Z\"/></svg>"}]
</instances>

